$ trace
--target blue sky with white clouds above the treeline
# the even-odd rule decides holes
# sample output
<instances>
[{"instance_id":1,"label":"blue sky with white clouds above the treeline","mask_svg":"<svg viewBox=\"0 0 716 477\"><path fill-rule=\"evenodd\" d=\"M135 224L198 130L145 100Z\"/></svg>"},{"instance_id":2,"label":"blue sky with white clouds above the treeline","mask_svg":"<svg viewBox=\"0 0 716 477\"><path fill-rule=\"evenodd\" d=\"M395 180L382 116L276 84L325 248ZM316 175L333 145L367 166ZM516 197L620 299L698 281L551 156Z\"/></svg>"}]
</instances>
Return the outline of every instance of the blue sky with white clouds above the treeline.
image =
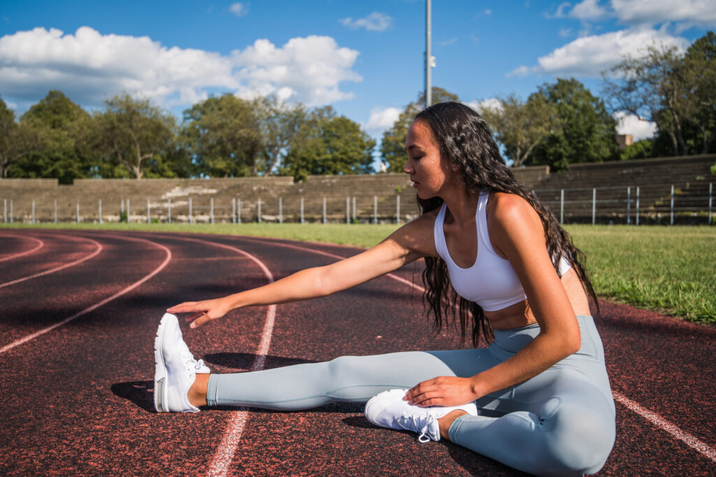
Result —
<instances>
[{"instance_id":1,"label":"blue sky with white clouds above the treeline","mask_svg":"<svg viewBox=\"0 0 716 477\"><path fill-rule=\"evenodd\" d=\"M0 1L0 97L18 115L51 89L89 110L127 92L178 119L212 94L276 94L379 139L424 88L425 0ZM716 0L435 0L432 85L478 106L575 77L601 97L625 55L715 28Z\"/></svg>"}]
</instances>

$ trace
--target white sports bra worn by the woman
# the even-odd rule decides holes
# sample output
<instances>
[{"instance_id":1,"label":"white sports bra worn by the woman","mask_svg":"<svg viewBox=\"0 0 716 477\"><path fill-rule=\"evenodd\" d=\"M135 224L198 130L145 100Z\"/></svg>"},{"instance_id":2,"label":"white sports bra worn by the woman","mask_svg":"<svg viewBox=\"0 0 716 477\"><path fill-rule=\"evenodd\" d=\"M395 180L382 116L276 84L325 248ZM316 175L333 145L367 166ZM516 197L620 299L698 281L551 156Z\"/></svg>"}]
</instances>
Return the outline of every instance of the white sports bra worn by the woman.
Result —
<instances>
[{"instance_id":1,"label":"white sports bra worn by the woman","mask_svg":"<svg viewBox=\"0 0 716 477\"><path fill-rule=\"evenodd\" d=\"M496 311L510 305L526 300L525 290L519 277L509 260L505 260L495 253L488 234L488 221L485 207L488 203L489 192L481 192L478 200L478 210L475 212L478 235L478 256L470 268L462 268L453 262L445 243L445 231L442 224L445 222L445 204L440 207L435 217L433 236L437 255L448 265L450 282L458 295L470 300L485 311ZM560 260L560 272L569 270L569 263L563 258Z\"/></svg>"}]
</instances>

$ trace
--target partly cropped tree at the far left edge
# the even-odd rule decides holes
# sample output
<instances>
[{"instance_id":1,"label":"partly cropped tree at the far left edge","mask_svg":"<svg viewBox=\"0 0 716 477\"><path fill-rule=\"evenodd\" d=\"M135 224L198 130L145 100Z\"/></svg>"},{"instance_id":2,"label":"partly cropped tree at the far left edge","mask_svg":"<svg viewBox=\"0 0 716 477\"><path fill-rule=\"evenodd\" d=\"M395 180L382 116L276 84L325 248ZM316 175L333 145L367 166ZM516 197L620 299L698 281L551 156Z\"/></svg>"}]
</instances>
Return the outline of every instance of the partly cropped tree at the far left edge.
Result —
<instances>
[{"instance_id":1,"label":"partly cropped tree at the far left edge","mask_svg":"<svg viewBox=\"0 0 716 477\"><path fill-rule=\"evenodd\" d=\"M42 147L43 138L26 122L15 121L15 113L0 98L0 179L9 169L33 151Z\"/></svg>"}]
</instances>

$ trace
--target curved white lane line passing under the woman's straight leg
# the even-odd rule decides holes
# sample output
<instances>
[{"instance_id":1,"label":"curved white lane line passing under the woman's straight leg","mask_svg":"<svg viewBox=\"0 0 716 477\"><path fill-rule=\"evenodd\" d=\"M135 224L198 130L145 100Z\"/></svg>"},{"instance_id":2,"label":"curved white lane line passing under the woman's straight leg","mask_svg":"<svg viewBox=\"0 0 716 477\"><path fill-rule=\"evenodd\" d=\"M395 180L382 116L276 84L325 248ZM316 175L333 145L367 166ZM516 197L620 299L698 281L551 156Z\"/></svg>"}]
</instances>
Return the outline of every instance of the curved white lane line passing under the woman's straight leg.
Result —
<instances>
[{"instance_id":1,"label":"curved white lane line passing under the woman's straight leg","mask_svg":"<svg viewBox=\"0 0 716 477\"><path fill-rule=\"evenodd\" d=\"M258 258L254 255L251 255L248 252L244 252L239 248L232 247L231 245L225 245L223 243L211 242L209 240L201 240L190 237L171 237L175 239L178 238L180 240L188 240L190 242L207 243L209 245L221 247L226 250L233 250L233 252L237 252L238 254L248 257L250 260L256 263L256 265L261 268L261 271L263 271L263 275L266 275L266 279L269 281L269 283L274 281L274 275L271 273L271 270L269 270L269 267L266 267L266 264L261 262L261 260L258 260ZM266 355L269 354L269 347L271 346L271 335L273 335L274 333L275 322L276 305L269 305L269 309L266 310L266 321L263 323L261 342L258 343L258 348L256 349L256 358L253 359L253 364L251 365L252 371L260 371L263 369L263 365L266 364ZM233 461L233 455L236 452L236 446L238 446L238 442L241 441L241 435L243 434L243 429L246 427L246 421L248 420L248 412L246 410L236 410L232 411L231 414L231 419L229 420L228 425L226 426L226 430L223 433L221 443L219 443L219 446L216 449L216 453L214 453L211 463L209 463L209 469L207 471L208 476L226 476L226 473L228 473L228 468L229 466L231 466L231 462Z\"/></svg>"}]
</instances>

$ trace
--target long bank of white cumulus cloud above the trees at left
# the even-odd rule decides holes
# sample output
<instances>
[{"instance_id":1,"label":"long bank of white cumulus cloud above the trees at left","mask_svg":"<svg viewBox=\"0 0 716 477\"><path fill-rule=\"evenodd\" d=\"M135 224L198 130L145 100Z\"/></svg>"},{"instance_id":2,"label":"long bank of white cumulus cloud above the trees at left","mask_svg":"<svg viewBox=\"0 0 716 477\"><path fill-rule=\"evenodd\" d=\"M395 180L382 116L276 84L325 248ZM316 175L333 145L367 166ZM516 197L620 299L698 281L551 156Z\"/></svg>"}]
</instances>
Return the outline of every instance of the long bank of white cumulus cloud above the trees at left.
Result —
<instances>
[{"instance_id":1,"label":"long bank of white cumulus cloud above the trees at left","mask_svg":"<svg viewBox=\"0 0 716 477\"><path fill-rule=\"evenodd\" d=\"M329 36L294 38L284 46L261 39L226 56L168 48L148 36L102 35L87 26L74 34L36 28L0 38L0 84L4 97L21 103L60 89L89 107L122 91L165 105L188 106L209 92L274 93L326 104L352 97L339 86L362 80L352 71L358 54Z\"/></svg>"}]
</instances>

